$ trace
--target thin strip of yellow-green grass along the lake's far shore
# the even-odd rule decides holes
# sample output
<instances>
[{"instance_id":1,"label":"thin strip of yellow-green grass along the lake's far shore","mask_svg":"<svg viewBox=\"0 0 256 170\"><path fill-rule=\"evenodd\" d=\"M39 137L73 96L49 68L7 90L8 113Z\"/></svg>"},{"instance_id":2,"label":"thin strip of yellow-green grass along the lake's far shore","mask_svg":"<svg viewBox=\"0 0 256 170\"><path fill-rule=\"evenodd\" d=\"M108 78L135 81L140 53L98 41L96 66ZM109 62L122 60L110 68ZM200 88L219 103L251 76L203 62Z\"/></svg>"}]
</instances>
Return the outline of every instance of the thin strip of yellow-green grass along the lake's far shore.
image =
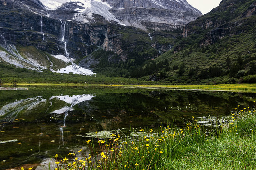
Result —
<instances>
[{"instance_id":1,"label":"thin strip of yellow-green grass along the lake's far shore","mask_svg":"<svg viewBox=\"0 0 256 170\"><path fill-rule=\"evenodd\" d=\"M2 84L3 86L13 86L12 83ZM140 87L140 88L159 88L159 89L197 89L197 90L223 90L256 92L256 84L222 84L222 85L120 85L120 84L55 84L55 83L16 83L15 86L101 86L101 87Z\"/></svg>"}]
</instances>

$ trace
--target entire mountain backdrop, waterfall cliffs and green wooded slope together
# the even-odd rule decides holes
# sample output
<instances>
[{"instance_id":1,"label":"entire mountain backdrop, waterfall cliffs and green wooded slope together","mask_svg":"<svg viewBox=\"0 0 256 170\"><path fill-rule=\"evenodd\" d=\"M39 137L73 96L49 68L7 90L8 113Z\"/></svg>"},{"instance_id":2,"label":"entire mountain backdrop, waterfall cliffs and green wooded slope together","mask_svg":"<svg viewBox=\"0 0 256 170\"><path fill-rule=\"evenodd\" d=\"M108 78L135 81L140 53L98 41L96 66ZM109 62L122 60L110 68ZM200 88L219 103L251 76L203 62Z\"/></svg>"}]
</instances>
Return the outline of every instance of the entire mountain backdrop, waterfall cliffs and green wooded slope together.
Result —
<instances>
[{"instance_id":1,"label":"entire mountain backdrop, waterfall cliffs and green wooded slope together","mask_svg":"<svg viewBox=\"0 0 256 170\"><path fill-rule=\"evenodd\" d=\"M0 67L256 82L255 11L255 0L222 0L203 16L185 0L0 0Z\"/></svg>"}]
</instances>

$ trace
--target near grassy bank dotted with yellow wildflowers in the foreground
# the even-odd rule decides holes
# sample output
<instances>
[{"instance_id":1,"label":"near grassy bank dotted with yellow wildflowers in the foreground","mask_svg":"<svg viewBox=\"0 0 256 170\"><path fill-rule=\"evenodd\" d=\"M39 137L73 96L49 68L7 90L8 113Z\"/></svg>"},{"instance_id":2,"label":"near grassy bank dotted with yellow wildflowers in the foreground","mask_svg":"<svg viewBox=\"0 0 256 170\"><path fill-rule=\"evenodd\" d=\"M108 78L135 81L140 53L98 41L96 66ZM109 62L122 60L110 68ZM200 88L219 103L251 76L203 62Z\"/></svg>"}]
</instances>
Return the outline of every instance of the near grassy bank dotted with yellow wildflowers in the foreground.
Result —
<instances>
[{"instance_id":1,"label":"near grassy bank dotted with yellow wildflowers in the foreground","mask_svg":"<svg viewBox=\"0 0 256 170\"><path fill-rule=\"evenodd\" d=\"M66 157L56 155L55 170L255 170L256 111L234 109L226 123L201 127L196 119L183 127L163 126L87 140ZM99 145L99 147L95 147ZM98 148L98 149L96 149Z\"/></svg>"}]
</instances>

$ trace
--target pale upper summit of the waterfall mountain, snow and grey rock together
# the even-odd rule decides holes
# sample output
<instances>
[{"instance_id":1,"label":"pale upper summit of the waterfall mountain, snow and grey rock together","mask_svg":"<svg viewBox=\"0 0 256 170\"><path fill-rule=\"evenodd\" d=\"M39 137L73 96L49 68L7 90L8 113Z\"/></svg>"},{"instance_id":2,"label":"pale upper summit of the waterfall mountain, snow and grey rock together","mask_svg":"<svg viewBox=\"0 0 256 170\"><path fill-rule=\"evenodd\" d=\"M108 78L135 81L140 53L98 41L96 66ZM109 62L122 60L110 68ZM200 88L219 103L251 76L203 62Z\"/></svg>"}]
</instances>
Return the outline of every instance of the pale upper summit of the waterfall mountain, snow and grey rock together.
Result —
<instances>
[{"instance_id":1,"label":"pale upper summit of the waterfall mountain, snow and grey rock together","mask_svg":"<svg viewBox=\"0 0 256 170\"><path fill-rule=\"evenodd\" d=\"M52 16L62 14L65 20L93 23L94 14L110 22L133 26L142 30L172 30L181 28L201 16L201 12L186 0L40 0L54 10ZM58 16L58 15L57 15ZM61 19L60 17L58 17Z\"/></svg>"}]
</instances>

